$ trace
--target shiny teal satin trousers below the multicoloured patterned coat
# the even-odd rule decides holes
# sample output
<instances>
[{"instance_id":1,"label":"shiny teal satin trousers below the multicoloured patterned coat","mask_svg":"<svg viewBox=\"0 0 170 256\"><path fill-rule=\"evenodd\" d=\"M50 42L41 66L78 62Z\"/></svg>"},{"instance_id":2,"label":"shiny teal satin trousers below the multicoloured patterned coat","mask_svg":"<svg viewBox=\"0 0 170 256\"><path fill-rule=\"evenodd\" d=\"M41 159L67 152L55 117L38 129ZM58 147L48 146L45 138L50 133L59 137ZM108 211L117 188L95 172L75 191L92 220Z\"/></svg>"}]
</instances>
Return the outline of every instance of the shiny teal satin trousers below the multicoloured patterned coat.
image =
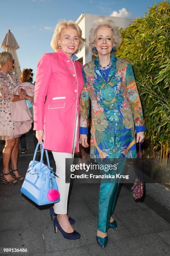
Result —
<instances>
[{"instance_id":1,"label":"shiny teal satin trousers below the multicoloured patterned coat","mask_svg":"<svg viewBox=\"0 0 170 256\"><path fill-rule=\"evenodd\" d=\"M109 172L115 175L122 174L126 159L117 164L117 170ZM105 183L109 179L102 179L99 191L98 223L97 229L103 233L107 232L110 223L110 216L113 214L117 202L117 195L120 187L120 179L110 179L111 183Z\"/></svg>"}]
</instances>

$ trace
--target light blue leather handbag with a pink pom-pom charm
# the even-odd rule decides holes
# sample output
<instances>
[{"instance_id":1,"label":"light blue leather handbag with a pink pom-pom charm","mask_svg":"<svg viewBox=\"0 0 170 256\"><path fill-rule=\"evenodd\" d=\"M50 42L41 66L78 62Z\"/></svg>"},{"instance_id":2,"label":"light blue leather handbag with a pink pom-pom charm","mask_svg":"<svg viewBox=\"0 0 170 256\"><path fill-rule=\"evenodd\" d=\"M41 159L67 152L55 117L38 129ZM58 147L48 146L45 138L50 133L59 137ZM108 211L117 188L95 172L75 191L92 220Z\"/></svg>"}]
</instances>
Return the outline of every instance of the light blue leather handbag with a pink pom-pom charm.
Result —
<instances>
[{"instance_id":1,"label":"light blue leather handbag with a pink pom-pom charm","mask_svg":"<svg viewBox=\"0 0 170 256\"><path fill-rule=\"evenodd\" d=\"M48 205L60 202L60 193L58 192L55 176L57 176L50 167L47 150L45 154L47 158L47 165L43 163L44 146L41 146L41 159L35 161L39 143L35 148L33 160L30 161L28 171L25 175L21 192L30 198L37 205Z\"/></svg>"}]
</instances>

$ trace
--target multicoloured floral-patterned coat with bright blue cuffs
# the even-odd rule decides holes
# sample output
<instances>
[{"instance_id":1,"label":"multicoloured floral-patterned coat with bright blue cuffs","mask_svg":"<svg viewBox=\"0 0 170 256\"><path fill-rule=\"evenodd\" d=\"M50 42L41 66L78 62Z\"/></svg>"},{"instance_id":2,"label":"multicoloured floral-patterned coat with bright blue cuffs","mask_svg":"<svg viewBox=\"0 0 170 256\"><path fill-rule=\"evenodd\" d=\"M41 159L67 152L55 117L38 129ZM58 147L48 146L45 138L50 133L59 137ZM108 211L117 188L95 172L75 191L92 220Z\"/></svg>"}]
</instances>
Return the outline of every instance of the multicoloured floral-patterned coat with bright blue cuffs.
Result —
<instances>
[{"instance_id":1,"label":"multicoloured floral-patterned coat with bright blue cuffs","mask_svg":"<svg viewBox=\"0 0 170 256\"><path fill-rule=\"evenodd\" d=\"M99 59L83 66L84 87L80 97L80 134L87 134L91 100L91 158L135 158L136 132L145 131L142 106L132 65L111 54L107 82Z\"/></svg>"}]
</instances>

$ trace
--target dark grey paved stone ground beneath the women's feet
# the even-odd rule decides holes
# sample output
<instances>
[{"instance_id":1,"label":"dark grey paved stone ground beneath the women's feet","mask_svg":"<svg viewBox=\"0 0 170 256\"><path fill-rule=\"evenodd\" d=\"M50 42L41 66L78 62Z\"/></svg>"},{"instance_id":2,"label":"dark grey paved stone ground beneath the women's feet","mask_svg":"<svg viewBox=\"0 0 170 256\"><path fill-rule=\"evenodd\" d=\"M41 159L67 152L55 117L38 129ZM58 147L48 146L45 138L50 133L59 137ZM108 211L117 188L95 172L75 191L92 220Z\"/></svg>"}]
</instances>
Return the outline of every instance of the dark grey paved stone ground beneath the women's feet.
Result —
<instances>
[{"instance_id":1,"label":"dark grey paved stone ground beneath the women's feet","mask_svg":"<svg viewBox=\"0 0 170 256\"><path fill-rule=\"evenodd\" d=\"M23 175L32 160L32 143L29 134L28 154L19 156L18 161ZM54 166L50 156L51 165ZM0 186L0 247L28 249L28 253L15 255L170 255L170 212L148 196L143 202L135 202L129 188L122 186L114 213L118 230L108 230L109 243L102 249L95 238L98 184L72 186L69 215L76 220L75 230L81 234L76 241L64 239L59 231L54 233L49 207L37 207L23 197L21 185Z\"/></svg>"}]
</instances>

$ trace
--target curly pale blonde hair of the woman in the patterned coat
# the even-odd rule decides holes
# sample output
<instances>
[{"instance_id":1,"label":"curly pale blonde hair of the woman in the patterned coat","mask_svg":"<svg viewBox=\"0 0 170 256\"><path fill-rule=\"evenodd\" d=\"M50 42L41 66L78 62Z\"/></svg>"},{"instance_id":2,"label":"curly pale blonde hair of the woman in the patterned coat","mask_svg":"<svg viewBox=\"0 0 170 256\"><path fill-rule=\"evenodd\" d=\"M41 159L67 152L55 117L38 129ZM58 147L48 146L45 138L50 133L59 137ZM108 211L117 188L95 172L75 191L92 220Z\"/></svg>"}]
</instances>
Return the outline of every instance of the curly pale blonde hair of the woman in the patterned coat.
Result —
<instances>
[{"instance_id":1,"label":"curly pale blonde hair of the woman in the patterned coat","mask_svg":"<svg viewBox=\"0 0 170 256\"><path fill-rule=\"evenodd\" d=\"M95 20L95 22L92 25L92 28L90 29L89 33L89 45L90 48L92 49L92 52L97 55L97 51L94 50L95 47L95 40L96 40L96 35L97 35L97 30L102 27L102 26L107 26L108 28L111 29L112 31L112 39L113 39L113 46L115 47L115 50L111 51L113 54L117 53L117 48L121 44L121 36L120 36L120 31L117 29L117 27L114 27L114 22L109 19L99 19Z\"/></svg>"}]
</instances>

